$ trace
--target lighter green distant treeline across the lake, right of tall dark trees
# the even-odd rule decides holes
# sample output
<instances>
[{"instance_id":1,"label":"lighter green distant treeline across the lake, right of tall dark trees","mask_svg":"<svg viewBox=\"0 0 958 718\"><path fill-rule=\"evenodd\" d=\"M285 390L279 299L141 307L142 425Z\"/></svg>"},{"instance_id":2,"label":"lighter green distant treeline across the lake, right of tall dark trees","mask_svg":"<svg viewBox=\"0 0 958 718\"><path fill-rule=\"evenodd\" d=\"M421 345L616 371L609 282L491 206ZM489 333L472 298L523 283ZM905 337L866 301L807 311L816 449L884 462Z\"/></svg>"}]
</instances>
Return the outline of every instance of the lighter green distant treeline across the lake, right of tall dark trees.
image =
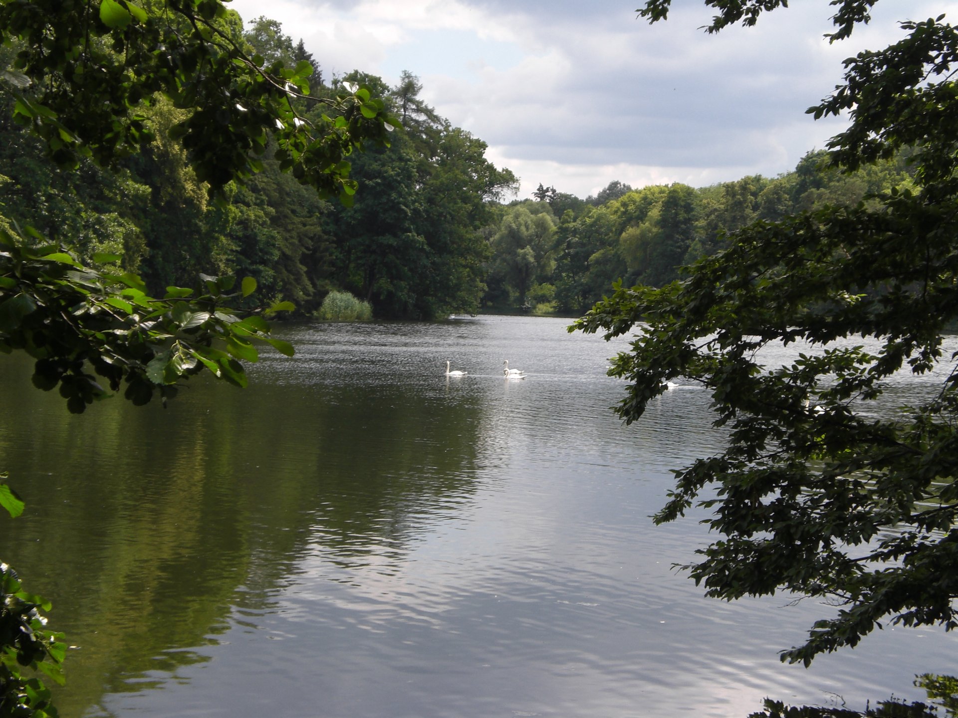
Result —
<instances>
[{"instance_id":1,"label":"lighter green distant treeline across the lake, right of tall dark trees","mask_svg":"<svg viewBox=\"0 0 958 718\"><path fill-rule=\"evenodd\" d=\"M829 167L828 158L825 150L812 151L778 177L753 175L704 188L632 190L612 182L584 200L540 186L534 200L513 202L486 230L492 258L484 302L530 309L548 297L554 310L582 314L617 280L659 287L678 279L680 267L726 248L727 236L754 221L862 201L874 206L867 198L914 187L907 148L851 173ZM543 230L527 238L516 223L529 213Z\"/></svg>"}]
</instances>

